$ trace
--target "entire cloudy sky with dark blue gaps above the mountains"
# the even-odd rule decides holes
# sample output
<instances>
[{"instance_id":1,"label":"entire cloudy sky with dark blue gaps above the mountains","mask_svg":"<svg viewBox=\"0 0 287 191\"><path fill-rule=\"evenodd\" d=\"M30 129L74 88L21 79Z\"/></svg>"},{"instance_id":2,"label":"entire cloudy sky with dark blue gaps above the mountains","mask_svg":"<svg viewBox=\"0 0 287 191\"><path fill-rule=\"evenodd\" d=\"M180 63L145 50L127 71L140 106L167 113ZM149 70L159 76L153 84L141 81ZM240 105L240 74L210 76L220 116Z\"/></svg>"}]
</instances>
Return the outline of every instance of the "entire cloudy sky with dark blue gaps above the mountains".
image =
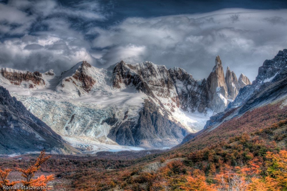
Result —
<instances>
[{"instance_id":1,"label":"entire cloudy sky with dark blue gaps above the mountains","mask_svg":"<svg viewBox=\"0 0 287 191\"><path fill-rule=\"evenodd\" d=\"M206 78L216 55L254 80L287 48L287 1L0 0L0 67L57 74L81 60L182 67Z\"/></svg>"}]
</instances>

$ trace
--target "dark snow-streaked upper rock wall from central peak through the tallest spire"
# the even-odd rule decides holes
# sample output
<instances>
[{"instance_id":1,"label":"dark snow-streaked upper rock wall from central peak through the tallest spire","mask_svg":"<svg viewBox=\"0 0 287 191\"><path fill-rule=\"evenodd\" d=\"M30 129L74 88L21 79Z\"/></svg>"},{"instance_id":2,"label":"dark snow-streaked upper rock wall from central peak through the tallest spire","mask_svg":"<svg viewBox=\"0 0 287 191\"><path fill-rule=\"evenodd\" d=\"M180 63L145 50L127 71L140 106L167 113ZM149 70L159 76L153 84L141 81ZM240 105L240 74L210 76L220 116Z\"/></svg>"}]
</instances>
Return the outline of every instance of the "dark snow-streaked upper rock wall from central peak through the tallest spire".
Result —
<instances>
[{"instance_id":1,"label":"dark snow-streaked upper rock wall from central peak through the tallest spire","mask_svg":"<svg viewBox=\"0 0 287 191\"><path fill-rule=\"evenodd\" d=\"M228 74L229 75L229 74ZM229 78L229 76L227 76ZM237 78L230 72L231 81L228 92L220 57L216 57L216 65L207 80L201 83L193 79L184 69L174 67L169 70L165 66L151 62L136 65L118 62L113 70L112 84L114 88L134 86L137 90L154 99L171 98L172 107L181 107L184 111L200 113L207 108L221 112L233 100L237 93ZM248 79L248 78L247 78ZM231 88L234 86L234 89Z\"/></svg>"}]
</instances>

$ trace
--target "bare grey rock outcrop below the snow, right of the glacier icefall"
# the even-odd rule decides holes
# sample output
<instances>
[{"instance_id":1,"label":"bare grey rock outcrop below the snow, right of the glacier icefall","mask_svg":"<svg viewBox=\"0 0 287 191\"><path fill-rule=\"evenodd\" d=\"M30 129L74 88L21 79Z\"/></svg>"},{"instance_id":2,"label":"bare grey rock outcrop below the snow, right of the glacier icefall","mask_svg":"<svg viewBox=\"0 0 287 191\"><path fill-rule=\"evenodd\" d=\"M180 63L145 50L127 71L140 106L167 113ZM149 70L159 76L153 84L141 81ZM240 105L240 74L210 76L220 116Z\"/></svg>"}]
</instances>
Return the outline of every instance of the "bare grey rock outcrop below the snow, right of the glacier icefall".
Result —
<instances>
[{"instance_id":1,"label":"bare grey rock outcrop below the snow, right of the glacier icefall","mask_svg":"<svg viewBox=\"0 0 287 191\"><path fill-rule=\"evenodd\" d=\"M108 137L122 145L159 148L179 144L187 133L180 123L161 115L155 103L145 100L138 120L119 123Z\"/></svg>"}]
</instances>

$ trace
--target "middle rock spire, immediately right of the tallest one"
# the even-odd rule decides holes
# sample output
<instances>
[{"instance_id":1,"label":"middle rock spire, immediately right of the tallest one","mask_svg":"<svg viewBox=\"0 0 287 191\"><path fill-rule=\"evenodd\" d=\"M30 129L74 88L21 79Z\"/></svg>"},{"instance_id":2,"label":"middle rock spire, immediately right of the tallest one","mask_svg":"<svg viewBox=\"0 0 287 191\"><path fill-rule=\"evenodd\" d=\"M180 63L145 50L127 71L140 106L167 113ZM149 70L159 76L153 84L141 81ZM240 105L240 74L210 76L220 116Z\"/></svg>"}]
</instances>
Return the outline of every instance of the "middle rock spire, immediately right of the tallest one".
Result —
<instances>
[{"instance_id":1,"label":"middle rock spire, immediately right of the tallest one","mask_svg":"<svg viewBox=\"0 0 287 191\"><path fill-rule=\"evenodd\" d=\"M238 94L238 80L233 71L230 70L229 66L227 67L226 74L225 74L225 83L227 86L227 93L230 96L232 100L235 99L235 97Z\"/></svg>"}]
</instances>

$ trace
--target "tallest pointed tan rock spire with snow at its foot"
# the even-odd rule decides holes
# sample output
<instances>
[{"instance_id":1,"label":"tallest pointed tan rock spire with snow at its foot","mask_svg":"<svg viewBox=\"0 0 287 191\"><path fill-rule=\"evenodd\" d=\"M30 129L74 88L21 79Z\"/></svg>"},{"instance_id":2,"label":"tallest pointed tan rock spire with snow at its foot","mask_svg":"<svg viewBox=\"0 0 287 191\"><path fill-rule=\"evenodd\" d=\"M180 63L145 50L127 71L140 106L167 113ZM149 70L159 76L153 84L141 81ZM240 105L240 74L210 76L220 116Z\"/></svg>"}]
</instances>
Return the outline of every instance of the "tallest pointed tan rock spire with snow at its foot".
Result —
<instances>
[{"instance_id":1,"label":"tallest pointed tan rock spire with snow at its foot","mask_svg":"<svg viewBox=\"0 0 287 191\"><path fill-rule=\"evenodd\" d=\"M219 55L215 58L215 66L206 80L208 107L218 113L224 111L229 101L227 86L224 78L222 62Z\"/></svg>"}]
</instances>

